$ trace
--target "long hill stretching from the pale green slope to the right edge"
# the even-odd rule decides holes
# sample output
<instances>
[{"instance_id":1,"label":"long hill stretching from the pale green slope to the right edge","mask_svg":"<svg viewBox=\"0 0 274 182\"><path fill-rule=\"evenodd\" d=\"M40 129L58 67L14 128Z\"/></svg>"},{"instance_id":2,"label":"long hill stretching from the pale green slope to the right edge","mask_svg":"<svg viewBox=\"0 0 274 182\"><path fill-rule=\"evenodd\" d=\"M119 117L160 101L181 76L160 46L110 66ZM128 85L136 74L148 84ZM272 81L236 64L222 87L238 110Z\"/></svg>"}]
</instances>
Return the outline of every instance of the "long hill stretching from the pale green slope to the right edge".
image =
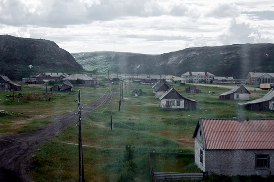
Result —
<instances>
[{"instance_id":1,"label":"long hill stretching from the pale green slope to the right edge","mask_svg":"<svg viewBox=\"0 0 274 182\"><path fill-rule=\"evenodd\" d=\"M197 47L161 55L103 51L72 53L72 56L84 69L100 73L110 70L180 76L192 71L245 79L249 72L274 72L274 44Z\"/></svg>"}]
</instances>

